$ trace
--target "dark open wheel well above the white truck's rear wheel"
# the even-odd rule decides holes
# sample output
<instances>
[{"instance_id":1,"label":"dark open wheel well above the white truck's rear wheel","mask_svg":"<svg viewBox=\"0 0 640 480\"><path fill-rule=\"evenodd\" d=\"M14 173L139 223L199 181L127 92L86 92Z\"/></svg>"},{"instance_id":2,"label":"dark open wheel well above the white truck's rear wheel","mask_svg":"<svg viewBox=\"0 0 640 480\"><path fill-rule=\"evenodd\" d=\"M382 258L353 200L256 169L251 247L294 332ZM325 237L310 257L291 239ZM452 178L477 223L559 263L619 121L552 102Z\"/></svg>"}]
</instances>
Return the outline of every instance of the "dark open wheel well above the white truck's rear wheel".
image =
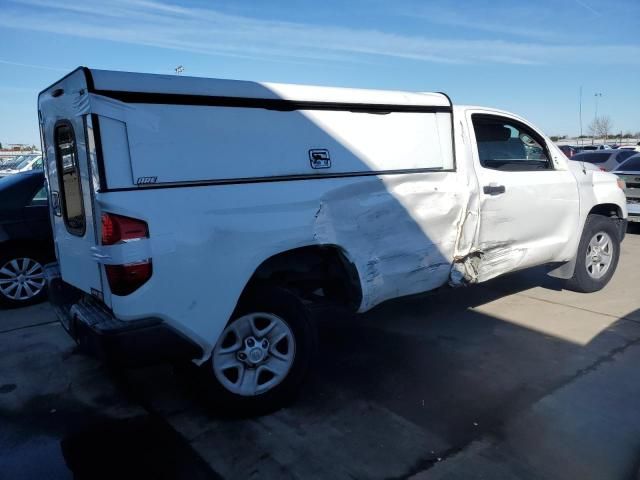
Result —
<instances>
[{"instance_id":1,"label":"dark open wheel well above the white truck's rear wheel","mask_svg":"<svg viewBox=\"0 0 640 480\"><path fill-rule=\"evenodd\" d=\"M260 264L242 296L268 283L294 291L303 299L357 309L362 300L360 277L343 250L313 245L278 253Z\"/></svg>"}]
</instances>

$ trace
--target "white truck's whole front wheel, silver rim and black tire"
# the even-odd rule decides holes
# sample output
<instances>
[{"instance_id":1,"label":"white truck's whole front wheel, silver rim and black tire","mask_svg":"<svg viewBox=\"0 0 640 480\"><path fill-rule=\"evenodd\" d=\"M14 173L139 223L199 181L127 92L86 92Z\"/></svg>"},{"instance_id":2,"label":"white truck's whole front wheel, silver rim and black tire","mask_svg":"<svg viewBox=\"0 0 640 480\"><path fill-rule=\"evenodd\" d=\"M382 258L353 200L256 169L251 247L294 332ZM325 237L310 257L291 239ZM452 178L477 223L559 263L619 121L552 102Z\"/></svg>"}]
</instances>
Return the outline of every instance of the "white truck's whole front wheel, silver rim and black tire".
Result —
<instances>
[{"instance_id":1,"label":"white truck's whole front wheel, silver rim and black tire","mask_svg":"<svg viewBox=\"0 0 640 480\"><path fill-rule=\"evenodd\" d=\"M603 289L613 277L620 258L620 236L614 220L602 215L589 215L577 255L568 287L583 293Z\"/></svg>"}]
</instances>

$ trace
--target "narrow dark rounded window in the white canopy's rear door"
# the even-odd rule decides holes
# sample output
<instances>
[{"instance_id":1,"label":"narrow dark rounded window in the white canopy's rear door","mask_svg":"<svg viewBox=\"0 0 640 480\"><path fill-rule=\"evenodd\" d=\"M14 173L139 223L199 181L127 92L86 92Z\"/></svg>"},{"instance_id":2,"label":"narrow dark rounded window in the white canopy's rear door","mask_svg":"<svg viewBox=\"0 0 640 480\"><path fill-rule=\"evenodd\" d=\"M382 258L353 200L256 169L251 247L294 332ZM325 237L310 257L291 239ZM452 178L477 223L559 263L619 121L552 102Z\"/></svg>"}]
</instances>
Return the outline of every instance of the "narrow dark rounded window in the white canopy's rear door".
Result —
<instances>
[{"instance_id":1,"label":"narrow dark rounded window in the white canopy's rear door","mask_svg":"<svg viewBox=\"0 0 640 480\"><path fill-rule=\"evenodd\" d=\"M71 124L62 123L56 126L54 138L62 216L69 233L81 237L86 225L76 140Z\"/></svg>"}]
</instances>

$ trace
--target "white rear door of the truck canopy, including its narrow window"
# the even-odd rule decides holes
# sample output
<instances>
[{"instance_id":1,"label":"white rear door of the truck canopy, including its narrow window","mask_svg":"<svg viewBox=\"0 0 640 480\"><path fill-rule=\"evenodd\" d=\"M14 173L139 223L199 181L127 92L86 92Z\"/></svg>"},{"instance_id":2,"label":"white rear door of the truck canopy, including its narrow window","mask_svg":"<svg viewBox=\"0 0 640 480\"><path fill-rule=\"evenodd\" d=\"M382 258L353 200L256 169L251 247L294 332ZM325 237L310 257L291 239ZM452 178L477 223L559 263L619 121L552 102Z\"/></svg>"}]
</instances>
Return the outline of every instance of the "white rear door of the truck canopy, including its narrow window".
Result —
<instances>
[{"instance_id":1,"label":"white rear door of the truck canopy, including its narrow window","mask_svg":"<svg viewBox=\"0 0 640 480\"><path fill-rule=\"evenodd\" d=\"M51 132L45 132L46 161L60 273L65 282L100 294L100 267L91 251L96 230L84 116L58 120L50 128Z\"/></svg>"}]
</instances>

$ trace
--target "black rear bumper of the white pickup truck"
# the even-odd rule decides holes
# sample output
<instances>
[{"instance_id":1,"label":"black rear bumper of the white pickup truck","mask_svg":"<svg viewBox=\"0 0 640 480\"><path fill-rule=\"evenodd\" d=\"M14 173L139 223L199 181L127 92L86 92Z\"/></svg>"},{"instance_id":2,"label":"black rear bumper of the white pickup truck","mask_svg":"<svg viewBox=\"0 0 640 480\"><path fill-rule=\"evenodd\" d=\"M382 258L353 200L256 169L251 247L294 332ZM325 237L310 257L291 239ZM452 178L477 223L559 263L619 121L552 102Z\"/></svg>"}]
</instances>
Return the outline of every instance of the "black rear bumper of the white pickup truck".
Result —
<instances>
[{"instance_id":1,"label":"black rear bumper of the white pickup truck","mask_svg":"<svg viewBox=\"0 0 640 480\"><path fill-rule=\"evenodd\" d=\"M45 271L49 301L58 320L82 351L120 366L202 356L199 345L162 320L119 320L102 302L65 283L57 264L46 265Z\"/></svg>"}]
</instances>

